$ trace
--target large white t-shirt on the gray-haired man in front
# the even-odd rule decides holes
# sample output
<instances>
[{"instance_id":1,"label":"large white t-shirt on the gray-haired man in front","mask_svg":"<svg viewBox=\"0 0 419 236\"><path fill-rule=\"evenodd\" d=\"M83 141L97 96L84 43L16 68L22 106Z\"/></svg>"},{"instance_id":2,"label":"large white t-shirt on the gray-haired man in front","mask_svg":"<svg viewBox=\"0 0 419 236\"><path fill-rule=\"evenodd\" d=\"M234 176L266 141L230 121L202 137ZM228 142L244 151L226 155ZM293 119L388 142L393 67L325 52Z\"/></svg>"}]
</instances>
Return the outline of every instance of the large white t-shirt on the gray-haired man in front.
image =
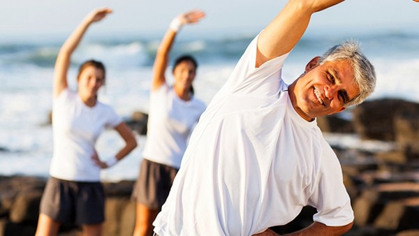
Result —
<instances>
[{"instance_id":1,"label":"large white t-shirt on the gray-haired man in front","mask_svg":"<svg viewBox=\"0 0 419 236\"><path fill-rule=\"evenodd\" d=\"M158 235L253 235L305 205L328 226L353 221L337 156L281 80L288 54L255 68L257 38L193 131L154 221Z\"/></svg>"}]
</instances>

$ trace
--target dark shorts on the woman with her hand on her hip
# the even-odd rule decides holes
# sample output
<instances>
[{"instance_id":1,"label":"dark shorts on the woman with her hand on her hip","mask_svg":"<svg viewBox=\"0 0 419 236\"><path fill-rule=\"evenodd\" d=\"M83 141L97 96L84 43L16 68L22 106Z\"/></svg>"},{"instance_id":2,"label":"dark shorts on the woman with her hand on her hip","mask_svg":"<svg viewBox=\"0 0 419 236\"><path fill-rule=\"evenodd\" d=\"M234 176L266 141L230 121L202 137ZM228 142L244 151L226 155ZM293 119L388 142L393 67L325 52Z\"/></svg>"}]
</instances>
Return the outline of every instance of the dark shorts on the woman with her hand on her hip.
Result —
<instances>
[{"instance_id":1,"label":"dark shorts on the woman with her hand on her hip","mask_svg":"<svg viewBox=\"0 0 419 236\"><path fill-rule=\"evenodd\" d=\"M100 182L72 182L50 177L40 212L55 221L89 225L105 221L105 192Z\"/></svg>"}]
</instances>

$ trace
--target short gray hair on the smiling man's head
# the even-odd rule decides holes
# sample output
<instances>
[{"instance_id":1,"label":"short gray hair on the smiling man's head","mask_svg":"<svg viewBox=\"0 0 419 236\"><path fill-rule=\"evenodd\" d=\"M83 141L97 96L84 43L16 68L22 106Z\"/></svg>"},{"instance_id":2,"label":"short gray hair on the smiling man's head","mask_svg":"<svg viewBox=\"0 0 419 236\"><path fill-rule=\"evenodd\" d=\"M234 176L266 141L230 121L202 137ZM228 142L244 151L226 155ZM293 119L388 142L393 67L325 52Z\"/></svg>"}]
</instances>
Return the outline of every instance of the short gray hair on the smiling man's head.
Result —
<instances>
[{"instance_id":1,"label":"short gray hair on the smiling man's head","mask_svg":"<svg viewBox=\"0 0 419 236\"><path fill-rule=\"evenodd\" d=\"M362 54L360 44L355 40L347 40L344 43L331 47L318 61L318 64L324 64L326 61L337 61L348 59L351 61L355 84L360 92L355 98L348 101L345 105L357 105L365 101L372 94L376 84L376 73L374 66Z\"/></svg>"}]
</instances>

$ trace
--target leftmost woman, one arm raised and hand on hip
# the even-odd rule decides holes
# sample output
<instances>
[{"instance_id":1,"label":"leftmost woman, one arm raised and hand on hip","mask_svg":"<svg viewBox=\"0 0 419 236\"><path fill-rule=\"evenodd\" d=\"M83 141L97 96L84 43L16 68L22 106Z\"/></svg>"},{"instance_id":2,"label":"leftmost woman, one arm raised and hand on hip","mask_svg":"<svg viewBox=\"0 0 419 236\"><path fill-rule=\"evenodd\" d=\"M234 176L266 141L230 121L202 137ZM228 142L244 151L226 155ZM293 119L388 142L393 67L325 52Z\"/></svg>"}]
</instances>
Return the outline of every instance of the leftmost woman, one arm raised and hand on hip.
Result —
<instances>
[{"instance_id":1,"label":"leftmost woman, one arm raised and hand on hip","mask_svg":"<svg viewBox=\"0 0 419 236\"><path fill-rule=\"evenodd\" d=\"M98 101L98 89L105 84L105 67L90 60L80 66L78 91L68 88L67 72L71 54L93 22L112 13L109 8L94 10L68 37L54 68L52 130L54 153L41 200L36 235L57 235L64 222L82 225L84 235L101 235L105 195L100 183L101 168L110 168L136 146L130 128L109 105ZM125 146L102 161L94 147L105 127L121 135Z\"/></svg>"}]
</instances>

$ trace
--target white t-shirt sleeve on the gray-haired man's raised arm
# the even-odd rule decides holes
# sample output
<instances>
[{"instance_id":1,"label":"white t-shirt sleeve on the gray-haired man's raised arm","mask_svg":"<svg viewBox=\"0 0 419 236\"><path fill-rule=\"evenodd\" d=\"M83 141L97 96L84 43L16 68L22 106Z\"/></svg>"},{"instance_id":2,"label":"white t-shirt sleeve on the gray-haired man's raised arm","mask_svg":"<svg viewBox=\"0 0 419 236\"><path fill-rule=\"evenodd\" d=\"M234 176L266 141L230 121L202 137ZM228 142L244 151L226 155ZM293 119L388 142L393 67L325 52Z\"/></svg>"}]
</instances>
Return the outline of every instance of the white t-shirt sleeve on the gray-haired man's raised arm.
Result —
<instances>
[{"instance_id":1,"label":"white t-shirt sleeve on the gray-haired man's raised arm","mask_svg":"<svg viewBox=\"0 0 419 236\"><path fill-rule=\"evenodd\" d=\"M253 38L247 50L237 62L233 72L223 85L223 93L246 94L249 96L273 96L281 87L281 69L288 53L270 59L256 67L256 52L259 34Z\"/></svg>"}]
</instances>

